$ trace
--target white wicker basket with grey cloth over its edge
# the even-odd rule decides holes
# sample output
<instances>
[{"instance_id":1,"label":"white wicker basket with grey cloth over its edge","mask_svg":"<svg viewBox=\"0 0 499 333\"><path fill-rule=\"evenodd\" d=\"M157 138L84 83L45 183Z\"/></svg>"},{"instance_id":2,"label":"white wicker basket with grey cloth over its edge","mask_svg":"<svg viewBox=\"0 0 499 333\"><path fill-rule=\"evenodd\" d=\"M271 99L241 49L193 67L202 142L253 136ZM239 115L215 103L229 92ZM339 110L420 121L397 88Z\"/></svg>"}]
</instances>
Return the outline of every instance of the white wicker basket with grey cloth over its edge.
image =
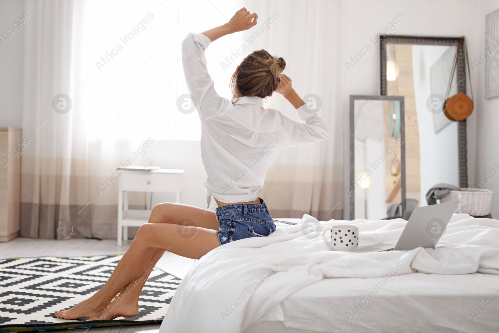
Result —
<instances>
[{"instance_id":1,"label":"white wicker basket with grey cloth over its edge","mask_svg":"<svg viewBox=\"0 0 499 333\"><path fill-rule=\"evenodd\" d=\"M464 187L461 191L449 191L449 194L440 199L440 202L459 200L456 213L484 216L491 211L492 193L490 190Z\"/></svg>"}]
</instances>

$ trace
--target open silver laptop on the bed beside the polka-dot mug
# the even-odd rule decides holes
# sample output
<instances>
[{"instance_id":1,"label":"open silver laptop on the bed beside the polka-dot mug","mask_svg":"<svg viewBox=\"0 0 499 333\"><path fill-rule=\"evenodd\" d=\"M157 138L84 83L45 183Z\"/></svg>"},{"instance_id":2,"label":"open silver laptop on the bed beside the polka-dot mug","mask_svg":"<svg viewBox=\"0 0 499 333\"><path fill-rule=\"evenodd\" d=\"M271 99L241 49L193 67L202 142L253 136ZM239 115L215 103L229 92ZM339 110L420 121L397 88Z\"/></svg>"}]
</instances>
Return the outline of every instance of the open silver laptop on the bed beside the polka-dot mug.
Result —
<instances>
[{"instance_id":1,"label":"open silver laptop on the bed beside the polka-dot mug","mask_svg":"<svg viewBox=\"0 0 499 333\"><path fill-rule=\"evenodd\" d=\"M451 201L416 208L395 247L393 244L382 243L357 249L355 252L408 251L419 247L434 249L458 207L459 201Z\"/></svg>"}]
</instances>

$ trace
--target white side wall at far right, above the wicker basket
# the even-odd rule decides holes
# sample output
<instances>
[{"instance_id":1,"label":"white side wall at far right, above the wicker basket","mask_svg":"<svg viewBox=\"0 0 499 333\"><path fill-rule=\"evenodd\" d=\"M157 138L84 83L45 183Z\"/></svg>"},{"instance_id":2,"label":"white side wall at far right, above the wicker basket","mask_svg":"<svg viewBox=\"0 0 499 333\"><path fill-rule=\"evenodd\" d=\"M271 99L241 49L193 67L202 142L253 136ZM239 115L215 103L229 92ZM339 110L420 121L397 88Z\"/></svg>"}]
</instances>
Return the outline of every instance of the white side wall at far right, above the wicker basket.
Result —
<instances>
[{"instance_id":1,"label":"white side wall at far right, above the wicker basket","mask_svg":"<svg viewBox=\"0 0 499 333\"><path fill-rule=\"evenodd\" d=\"M488 48L485 45L485 15L499 8L499 0L481 0L476 14L481 24L478 24L478 33L476 36L478 48L470 52L470 59L474 59L481 51ZM482 25L483 24L483 25ZM498 46L498 45L496 45ZM492 197L491 213L493 218L499 218L499 175L491 175L491 170L499 173L499 97L485 98L485 65L472 69L472 75L478 76L478 84L475 86L475 96L477 96L477 105L474 113L477 117L477 128L480 130L477 134L477 160L476 160L476 181L485 180L486 189L494 191ZM496 163L498 165L496 165ZM487 180L489 179L489 180ZM474 187L478 185L470 183ZM481 185L483 187L483 185Z\"/></svg>"}]
</instances>

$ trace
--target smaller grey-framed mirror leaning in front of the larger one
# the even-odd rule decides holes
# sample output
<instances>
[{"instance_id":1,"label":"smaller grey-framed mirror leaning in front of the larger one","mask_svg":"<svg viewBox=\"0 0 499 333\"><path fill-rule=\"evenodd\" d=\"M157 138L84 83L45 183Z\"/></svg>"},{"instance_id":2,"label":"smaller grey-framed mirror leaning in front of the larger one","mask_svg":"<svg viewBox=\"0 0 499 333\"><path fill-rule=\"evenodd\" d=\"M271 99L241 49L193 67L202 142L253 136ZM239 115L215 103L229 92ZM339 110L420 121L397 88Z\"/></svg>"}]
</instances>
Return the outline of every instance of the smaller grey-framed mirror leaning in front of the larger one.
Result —
<instances>
[{"instance_id":1,"label":"smaller grey-framed mirror leaning in front of the larger one","mask_svg":"<svg viewBox=\"0 0 499 333\"><path fill-rule=\"evenodd\" d=\"M350 219L406 210L404 97L350 95Z\"/></svg>"}]
</instances>

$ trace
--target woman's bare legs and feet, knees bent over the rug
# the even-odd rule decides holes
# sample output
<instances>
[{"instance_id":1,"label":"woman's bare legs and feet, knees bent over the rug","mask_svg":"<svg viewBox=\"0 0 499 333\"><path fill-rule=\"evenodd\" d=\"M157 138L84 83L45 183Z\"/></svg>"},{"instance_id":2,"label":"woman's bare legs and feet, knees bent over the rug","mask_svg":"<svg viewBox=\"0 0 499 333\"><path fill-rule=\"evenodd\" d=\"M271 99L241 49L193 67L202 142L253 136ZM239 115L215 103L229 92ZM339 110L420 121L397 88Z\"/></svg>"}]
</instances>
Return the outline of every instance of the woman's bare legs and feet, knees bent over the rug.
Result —
<instances>
[{"instance_id":1,"label":"woman's bare legs and feet, knees bent over the rug","mask_svg":"<svg viewBox=\"0 0 499 333\"><path fill-rule=\"evenodd\" d=\"M219 246L219 223L213 212L187 205L160 204L154 207L149 222L139 228L106 284L89 299L69 310L57 312L57 318L133 317L137 314L138 297L150 270L165 250L199 259ZM140 282L137 283L137 280ZM130 289L134 281L132 291L127 293L127 297L121 297L119 305L114 301L112 304L116 306L109 311L110 302L124 288ZM124 300L127 302L121 302Z\"/></svg>"}]
</instances>

